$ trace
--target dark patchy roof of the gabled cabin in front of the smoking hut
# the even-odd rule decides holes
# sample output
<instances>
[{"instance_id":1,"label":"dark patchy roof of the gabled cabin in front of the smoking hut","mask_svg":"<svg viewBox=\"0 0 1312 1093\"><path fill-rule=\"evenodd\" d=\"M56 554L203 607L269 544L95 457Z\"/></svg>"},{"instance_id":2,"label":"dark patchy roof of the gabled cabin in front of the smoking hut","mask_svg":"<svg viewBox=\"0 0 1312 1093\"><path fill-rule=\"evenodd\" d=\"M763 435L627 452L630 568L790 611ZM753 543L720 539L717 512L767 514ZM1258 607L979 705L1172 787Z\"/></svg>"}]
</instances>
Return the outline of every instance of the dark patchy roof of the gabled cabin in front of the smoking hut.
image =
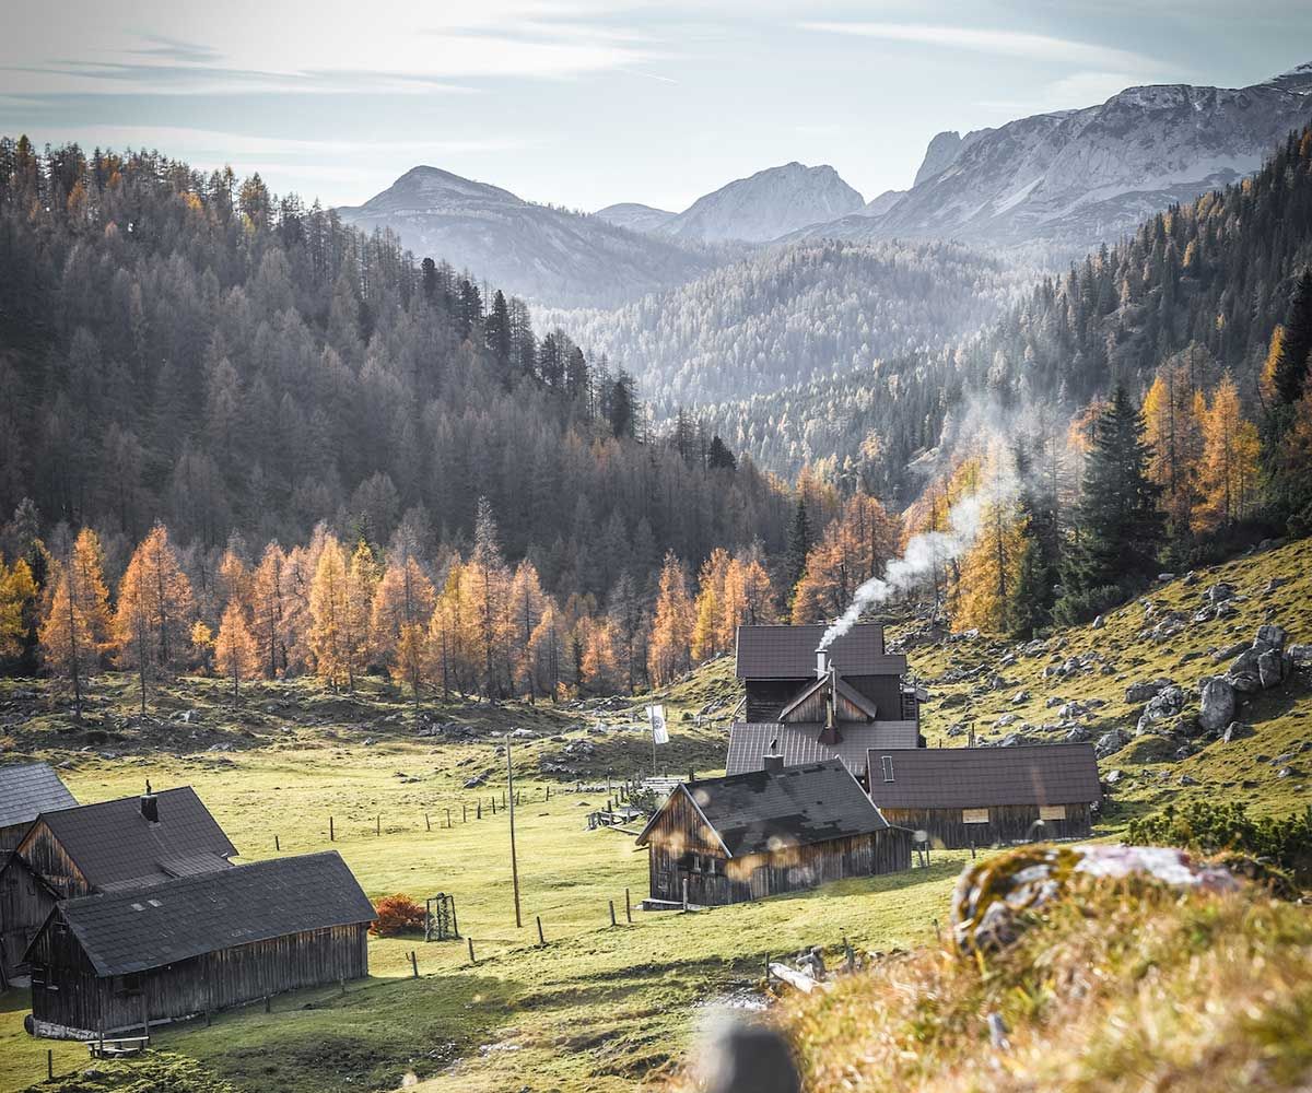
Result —
<instances>
[{"instance_id":1,"label":"dark patchy roof of the gabled cabin in front of the smoking hut","mask_svg":"<svg viewBox=\"0 0 1312 1093\"><path fill-rule=\"evenodd\" d=\"M681 783L676 793L691 798L731 858L870 835L888 827L838 760ZM655 823L653 816L638 836L639 846L647 845Z\"/></svg>"}]
</instances>

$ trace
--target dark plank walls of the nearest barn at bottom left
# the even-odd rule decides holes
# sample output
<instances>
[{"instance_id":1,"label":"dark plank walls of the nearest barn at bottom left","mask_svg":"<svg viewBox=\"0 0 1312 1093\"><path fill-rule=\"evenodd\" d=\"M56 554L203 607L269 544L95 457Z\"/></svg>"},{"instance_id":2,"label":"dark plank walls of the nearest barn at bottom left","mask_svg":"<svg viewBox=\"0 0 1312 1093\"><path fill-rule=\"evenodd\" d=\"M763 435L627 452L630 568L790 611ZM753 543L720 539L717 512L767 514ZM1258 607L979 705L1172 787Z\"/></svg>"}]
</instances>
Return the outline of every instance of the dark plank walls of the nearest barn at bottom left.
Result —
<instances>
[{"instance_id":1,"label":"dark plank walls of the nearest barn at bottom left","mask_svg":"<svg viewBox=\"0 0 1312 1093\"><path fill-rule=\"evenodd\" d=\"M369 924L239 945L142 972L98 976L60 922L33 950L31 1014L70 1031L106 1034L215 1012L302 987L369 975ZM39 1027L39 1025L38 1025Z\"/></svg>"}]
</instances>

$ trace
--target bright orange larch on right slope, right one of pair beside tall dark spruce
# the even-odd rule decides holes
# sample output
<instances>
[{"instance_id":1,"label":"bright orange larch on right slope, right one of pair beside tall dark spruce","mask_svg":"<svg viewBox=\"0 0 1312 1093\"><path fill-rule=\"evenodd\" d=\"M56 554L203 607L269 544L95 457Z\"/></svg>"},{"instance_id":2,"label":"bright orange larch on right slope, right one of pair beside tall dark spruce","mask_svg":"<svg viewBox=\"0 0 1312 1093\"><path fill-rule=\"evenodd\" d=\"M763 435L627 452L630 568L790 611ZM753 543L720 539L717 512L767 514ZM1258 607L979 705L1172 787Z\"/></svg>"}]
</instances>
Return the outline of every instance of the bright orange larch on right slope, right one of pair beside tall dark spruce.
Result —
<instances>
[{"instance_id":1,"label":"bright orange larch on right slope, right one of pair beside tall dark spruce","mask_svg":"<svg viewBox=\"0 0 1312 1093\"><path fill-rule=\"evenodd\" d=\"M1244 416L1235 378L1227 370L1203 411L1199 500L1194 522L1200 531L1249 516L1258 497L1257 426Z\"/></svg>"}]
</instances>

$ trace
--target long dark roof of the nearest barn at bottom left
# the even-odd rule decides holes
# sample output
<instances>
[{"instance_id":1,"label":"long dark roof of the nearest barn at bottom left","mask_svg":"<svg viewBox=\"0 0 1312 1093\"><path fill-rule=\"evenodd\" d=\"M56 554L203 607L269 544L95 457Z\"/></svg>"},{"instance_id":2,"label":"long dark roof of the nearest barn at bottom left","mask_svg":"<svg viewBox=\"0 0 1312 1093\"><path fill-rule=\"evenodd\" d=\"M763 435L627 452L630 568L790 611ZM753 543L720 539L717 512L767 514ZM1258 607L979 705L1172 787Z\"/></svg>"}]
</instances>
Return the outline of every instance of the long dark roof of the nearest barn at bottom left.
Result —
<instances>
[{"instance_id":1,"label":"long dark roof of the nearest barn at bottom left","mask_svg":"<svg viewBox=\"0 0 1312 1093\"><path fill-rule=\"evenodd\" d=\"M130 975L256 941L374 920L336 850L59 904L97 975Z\"/></svg>"}]
</instances>

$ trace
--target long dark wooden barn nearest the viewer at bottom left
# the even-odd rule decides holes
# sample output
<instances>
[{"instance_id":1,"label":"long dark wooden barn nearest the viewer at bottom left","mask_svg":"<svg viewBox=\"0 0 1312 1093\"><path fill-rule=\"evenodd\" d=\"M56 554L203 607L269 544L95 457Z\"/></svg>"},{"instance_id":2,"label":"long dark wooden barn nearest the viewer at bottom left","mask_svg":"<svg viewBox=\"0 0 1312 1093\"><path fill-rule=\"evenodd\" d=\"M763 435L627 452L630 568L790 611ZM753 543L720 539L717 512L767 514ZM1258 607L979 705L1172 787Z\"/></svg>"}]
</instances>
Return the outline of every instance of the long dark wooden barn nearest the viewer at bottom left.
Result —
<instances>
[{"instance_id":1,"label":"long dark wooden barn nearest the viewer at bottom left","mask_svg":"<svg viewBox=\"0 0 1312 1093\"><path fill-rule=\"evenodd\" d=\"M28 947L33 1030L89 1039L359 979L373 920L335 850L67 900Z\"/></svg>"}]
</instances>

